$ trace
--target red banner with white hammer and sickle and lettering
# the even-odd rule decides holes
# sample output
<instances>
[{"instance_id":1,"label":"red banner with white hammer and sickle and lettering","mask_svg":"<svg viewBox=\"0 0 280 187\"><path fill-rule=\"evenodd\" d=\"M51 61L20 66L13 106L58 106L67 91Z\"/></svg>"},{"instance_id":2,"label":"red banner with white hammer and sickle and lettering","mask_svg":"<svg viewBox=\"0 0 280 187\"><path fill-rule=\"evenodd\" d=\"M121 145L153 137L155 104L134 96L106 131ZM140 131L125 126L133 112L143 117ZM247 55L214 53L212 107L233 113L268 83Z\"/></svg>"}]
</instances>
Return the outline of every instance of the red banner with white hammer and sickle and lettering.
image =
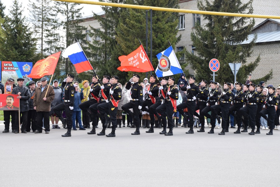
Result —
<instances>
[{"instance_id":1,"label":"red banner with white hammer and sickle and lettering","mask_svg":"<svg viewBox=\"0 0 280 187\"><path fill-rule=\"evenodd\" d=\"M127 56L119 56L119 61L121 61L121 66L117 69L120 71L154 71L154 68L142 45L140 45L135 51L131 52Z\"/></svg>"}]
</instances>

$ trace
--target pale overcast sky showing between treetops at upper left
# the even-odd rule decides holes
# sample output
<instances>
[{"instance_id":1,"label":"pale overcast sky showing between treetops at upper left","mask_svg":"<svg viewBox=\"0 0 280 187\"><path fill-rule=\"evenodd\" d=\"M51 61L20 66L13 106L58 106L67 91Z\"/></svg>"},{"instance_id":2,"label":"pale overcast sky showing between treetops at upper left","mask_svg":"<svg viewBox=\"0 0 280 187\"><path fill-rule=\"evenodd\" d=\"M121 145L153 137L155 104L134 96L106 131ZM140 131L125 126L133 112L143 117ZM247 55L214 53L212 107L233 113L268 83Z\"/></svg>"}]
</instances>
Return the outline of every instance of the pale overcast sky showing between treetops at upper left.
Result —
<instances>
[{"instance_id":1,"label":"pale overcast sky showing between treetops at upper left","mask_svg":"<svg viewBox=\"0 0 280 187\"><path fill-rule=\"evenodd\" d=\"M18 0L18 1L22 2L22 7L25 7L23 10L25 10L24 15L27 17L29 15L29 11L27 10L27 5L29 3L29 0ZM91 1L98 1L98 0L91 0ZM1 0L1 2L3 3L4 6L6 6L5 14L7 15L9 13L9 9L12 5L13 0ZM82 9L83 17L92 15L92 12L95 13L102 12L101 7L98 5L81 4L81 7L83 7ZM55 7L53 7L52 9L54 8Z\"/></svg>"}]
</instances>

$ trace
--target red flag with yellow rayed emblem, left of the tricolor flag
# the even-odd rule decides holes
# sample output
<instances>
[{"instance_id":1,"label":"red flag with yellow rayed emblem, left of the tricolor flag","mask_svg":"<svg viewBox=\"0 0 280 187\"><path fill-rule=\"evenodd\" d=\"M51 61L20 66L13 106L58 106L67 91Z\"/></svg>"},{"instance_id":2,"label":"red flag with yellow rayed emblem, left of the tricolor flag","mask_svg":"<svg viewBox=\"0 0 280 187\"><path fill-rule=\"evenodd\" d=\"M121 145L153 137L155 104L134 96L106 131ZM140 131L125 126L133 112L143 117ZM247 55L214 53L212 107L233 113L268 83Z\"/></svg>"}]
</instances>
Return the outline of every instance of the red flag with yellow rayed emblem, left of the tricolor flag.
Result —
<instances>
[{"instance_id":1,"label":"red flag with yellow rayed emblem, left of the tricolor flag","mask_svg":"<svg viewBox=\"0 0 280 187\"><path fill-rule=\"evenodd\" d=\"M60 53L61 51L36 62L28 77L38 79L44 77L45 75L54 74Z\"/></svg>"}]
</instances>

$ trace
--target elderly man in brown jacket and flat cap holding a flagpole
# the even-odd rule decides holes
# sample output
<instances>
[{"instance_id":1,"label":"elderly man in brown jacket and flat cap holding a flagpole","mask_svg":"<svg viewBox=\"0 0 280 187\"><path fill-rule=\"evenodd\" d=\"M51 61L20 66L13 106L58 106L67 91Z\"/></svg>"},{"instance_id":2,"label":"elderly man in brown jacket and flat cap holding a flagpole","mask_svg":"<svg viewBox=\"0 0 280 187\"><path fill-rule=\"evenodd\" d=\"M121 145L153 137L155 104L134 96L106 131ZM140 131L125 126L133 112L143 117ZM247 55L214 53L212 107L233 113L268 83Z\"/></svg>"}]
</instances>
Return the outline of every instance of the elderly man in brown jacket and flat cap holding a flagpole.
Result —
<instances>
[{"instance_id":1,"label":"elderly man in brown jacket and flat cap holding a flagpole","mask_svg":"<svg viewBox=\"0 0 280 187\"><path fill-rule=\"evenodd\" d=\"M42 133L43 130L43 119L45 133L49 134L49 111L50 105L54 100L54 89L52 86L47 84L47 78L41 78L41 86L35 88L35 94L33 99L33 106L36 110L37 124L35 133ZM49 87L49 89L48 89Z\"/></svg>"}]
</instances>

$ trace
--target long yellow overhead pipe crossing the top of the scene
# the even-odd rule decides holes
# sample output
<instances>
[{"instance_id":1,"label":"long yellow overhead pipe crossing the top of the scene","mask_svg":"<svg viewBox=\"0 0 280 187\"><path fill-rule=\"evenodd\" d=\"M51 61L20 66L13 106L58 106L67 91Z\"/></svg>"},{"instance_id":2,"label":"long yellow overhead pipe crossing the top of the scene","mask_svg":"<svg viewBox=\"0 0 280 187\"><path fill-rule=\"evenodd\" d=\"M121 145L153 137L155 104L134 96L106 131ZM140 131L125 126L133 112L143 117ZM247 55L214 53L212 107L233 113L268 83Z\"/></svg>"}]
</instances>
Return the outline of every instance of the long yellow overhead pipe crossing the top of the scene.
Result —
<instances>
[{"instance_id":1,"label":"long yellow overhead pipe crossing the top of the scene","mask_svg":"<svg viewBox=\"0 0 280 187\"><path fill-rule=\"evenodd\" d=\"M142 10L152 9L152 10L156 10L156 11L165 11L165 12L182 12L182 13L207 14L207 15L216 15L216 16L280 19L280 16L237 14L237 13L228 13L228 12L210 12L210 11L200 11L200 10L186 10L186 9L177 9L177 8L163 8L163 7L150 7L150 6L141 6L141 5L120 4L120 3L112 3L112 2L96 2L96 1L85 1L85 0L52 0L52 1L75 2L75 3L81 3L81 4L91 4L91 5L121 7L121 8L134 8L134 9L142 9Z\"/></svg>"}]
</instances>

